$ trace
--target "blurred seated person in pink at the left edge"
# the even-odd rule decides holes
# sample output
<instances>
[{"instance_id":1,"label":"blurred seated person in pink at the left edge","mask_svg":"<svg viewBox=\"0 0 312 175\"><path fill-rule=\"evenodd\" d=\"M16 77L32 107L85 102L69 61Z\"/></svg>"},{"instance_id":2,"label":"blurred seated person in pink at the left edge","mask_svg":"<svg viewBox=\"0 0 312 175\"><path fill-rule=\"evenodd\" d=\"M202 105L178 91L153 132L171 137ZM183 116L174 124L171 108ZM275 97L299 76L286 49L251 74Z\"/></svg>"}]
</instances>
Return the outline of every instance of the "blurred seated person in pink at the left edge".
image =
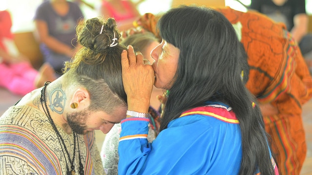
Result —
<instances>
[{"instance_id":1,"label":"blurred seated person in pink at the left edge","mask_svg":"<svg viewBox=\"0 0 312 175\"><path fill-rule=\"evenodd\" d=\"M45 81L54 81L55 71L48 63L36 70L29 59L20 54L11 27L10 13L0 11L0 87L14 94L26 95L42 87Z\"/></svg>"}]
</instances>

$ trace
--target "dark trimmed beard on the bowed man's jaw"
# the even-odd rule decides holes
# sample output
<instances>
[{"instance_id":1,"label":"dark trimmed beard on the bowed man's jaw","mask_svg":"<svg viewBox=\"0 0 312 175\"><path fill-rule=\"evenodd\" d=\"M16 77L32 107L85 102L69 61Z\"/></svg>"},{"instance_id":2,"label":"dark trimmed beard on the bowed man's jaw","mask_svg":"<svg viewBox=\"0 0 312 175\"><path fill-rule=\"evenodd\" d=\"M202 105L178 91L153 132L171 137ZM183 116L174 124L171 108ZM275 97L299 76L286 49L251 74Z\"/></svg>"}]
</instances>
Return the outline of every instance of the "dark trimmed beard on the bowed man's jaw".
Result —
<instances>
[{"instance_id":1,"label":"dark trimmed beard on the bowed man's jaw","mask_svg":"<svg viewBox=\"0 0 312 175\"><path fill-rule=\"evenodd\" d=\"M85 130L87 129L86 122L87 117L90 112L87 109L84 109L80 112L73 112L71 114L67 114L67 123L72 129L72 131L77 134L85 134Z\"/></svg>"}]
</instances>

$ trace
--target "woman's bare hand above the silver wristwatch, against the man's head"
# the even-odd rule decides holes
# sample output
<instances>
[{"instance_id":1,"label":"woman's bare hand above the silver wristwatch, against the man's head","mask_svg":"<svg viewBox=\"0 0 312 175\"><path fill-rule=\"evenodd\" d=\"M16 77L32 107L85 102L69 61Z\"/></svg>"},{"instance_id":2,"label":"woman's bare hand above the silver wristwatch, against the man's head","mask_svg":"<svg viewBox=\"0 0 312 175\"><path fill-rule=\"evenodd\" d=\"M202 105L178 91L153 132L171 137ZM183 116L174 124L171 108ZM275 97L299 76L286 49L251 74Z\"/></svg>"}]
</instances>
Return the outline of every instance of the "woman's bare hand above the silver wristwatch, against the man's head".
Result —
<instances>
[{"instance_id":1,"label":"woman's bare hand above the silver wristwatch, against the man's head","mask_svg":"<svg viewBox=\"0 0 312 175\"><path fill-rule=\"evenodd\" d=\"M148 113L155 75L151 65L132 46L121 53L122 83L127 93L128 110Z\"/></svg>"}]
</instances>

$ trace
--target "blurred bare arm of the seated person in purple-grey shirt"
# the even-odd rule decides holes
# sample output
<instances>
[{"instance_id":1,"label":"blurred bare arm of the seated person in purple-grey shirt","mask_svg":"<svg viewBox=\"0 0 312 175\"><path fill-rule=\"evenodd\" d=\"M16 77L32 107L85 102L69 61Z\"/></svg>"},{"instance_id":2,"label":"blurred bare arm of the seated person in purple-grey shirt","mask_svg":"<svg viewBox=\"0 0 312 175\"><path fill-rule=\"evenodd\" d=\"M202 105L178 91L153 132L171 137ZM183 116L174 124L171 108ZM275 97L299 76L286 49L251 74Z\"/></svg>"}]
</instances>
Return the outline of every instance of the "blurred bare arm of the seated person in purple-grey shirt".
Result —
<instances>
[{"instance_id":1,"label":"blurred bare arm of the seated person in purple-grey shirt","mask_svg":"<svg viewBox=\"0 0 312 175\"><path fill-rule=\"evenodd\" d=\"M40 42L46 44L48 48L57 53L62 53L69 57L73 56L75 51L71 47L49 35L49 29L46 22L42 20L35 20L35 25Z\"/></svg>"}]
</instances>

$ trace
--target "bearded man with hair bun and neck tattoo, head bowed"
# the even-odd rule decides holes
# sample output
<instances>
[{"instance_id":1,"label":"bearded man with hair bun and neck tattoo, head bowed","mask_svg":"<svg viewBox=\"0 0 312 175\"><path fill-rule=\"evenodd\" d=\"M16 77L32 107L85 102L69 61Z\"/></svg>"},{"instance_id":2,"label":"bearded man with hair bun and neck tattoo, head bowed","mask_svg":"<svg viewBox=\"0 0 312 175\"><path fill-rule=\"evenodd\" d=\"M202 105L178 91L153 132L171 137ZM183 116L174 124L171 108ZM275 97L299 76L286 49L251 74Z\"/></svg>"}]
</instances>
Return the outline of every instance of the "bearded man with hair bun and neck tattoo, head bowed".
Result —
<instances>
[{"instance_id":1,"label":"bearded man with hair bun and neck tattoo, head bowed","mask_svg":"<svg viewBox=\"0 0 312 175\"><path fill-rule=\"evenodd\" d=\"M116 21L78 24L81 45L64 74L0 117L1 173L103 175L94 130L107 133L126 117Z\"/></svg>"}]
</instances>

